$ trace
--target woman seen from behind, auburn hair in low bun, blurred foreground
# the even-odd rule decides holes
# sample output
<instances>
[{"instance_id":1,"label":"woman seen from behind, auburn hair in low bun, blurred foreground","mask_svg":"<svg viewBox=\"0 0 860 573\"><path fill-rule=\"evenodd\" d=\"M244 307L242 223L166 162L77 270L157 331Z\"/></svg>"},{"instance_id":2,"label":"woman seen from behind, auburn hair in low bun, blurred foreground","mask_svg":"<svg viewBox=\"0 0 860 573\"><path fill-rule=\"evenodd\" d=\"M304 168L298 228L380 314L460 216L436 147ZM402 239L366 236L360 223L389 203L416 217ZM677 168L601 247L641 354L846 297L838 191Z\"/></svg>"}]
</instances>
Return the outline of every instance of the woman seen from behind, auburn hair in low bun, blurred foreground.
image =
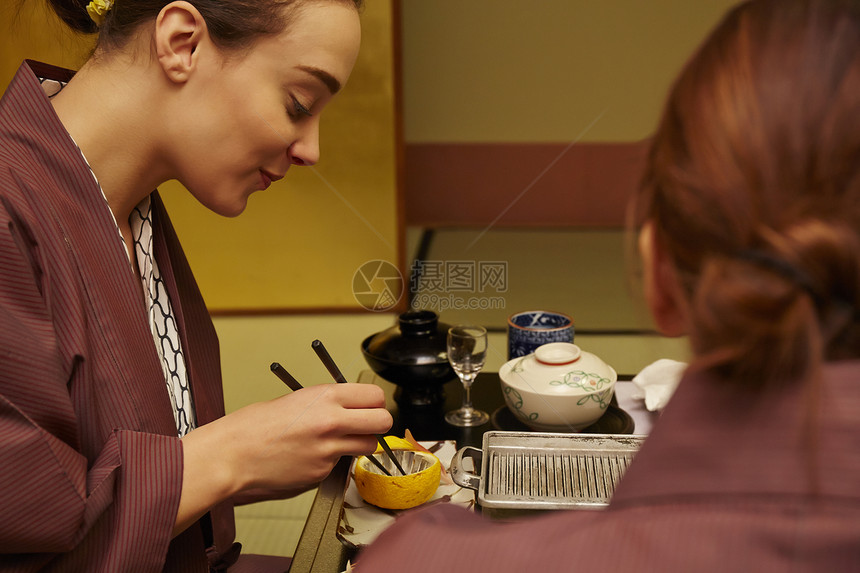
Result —
<instances>
[{"instance_id":1,"label":"woman seen from behind, auburn hair in low bun, blurred foreground","mask_svg":"<svg viewBox=\"0 0 860 573\"><path fill-rule=\"evenodd\" d=\"M655 321L694 359L608 509L419 511L362 573L860 568L860 2L731 10L633 212Z\"/></svg>"}]
</instances>

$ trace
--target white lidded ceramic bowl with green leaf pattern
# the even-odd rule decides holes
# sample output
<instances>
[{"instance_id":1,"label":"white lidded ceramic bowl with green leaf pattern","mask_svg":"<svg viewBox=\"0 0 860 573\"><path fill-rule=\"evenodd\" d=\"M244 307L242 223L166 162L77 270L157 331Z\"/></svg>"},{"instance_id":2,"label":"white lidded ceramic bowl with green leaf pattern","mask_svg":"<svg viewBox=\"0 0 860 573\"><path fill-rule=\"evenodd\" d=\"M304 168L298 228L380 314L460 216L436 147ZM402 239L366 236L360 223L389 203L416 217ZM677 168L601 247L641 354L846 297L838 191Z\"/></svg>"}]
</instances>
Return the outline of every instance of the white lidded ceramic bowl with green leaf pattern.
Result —
<instances>
[{"instance_id":1,"label":"white lidded ceramic bowl with green leaf pattern","mask_svg":"<svg viewBox=\"0 0 860 573\"><path fill-rule=\"evenodd\" d=\"M511 412L542 432L578 432L609 407L618 374L596 355L568 342L544 344L499 369Z\"/></svg>"}]
</instances>

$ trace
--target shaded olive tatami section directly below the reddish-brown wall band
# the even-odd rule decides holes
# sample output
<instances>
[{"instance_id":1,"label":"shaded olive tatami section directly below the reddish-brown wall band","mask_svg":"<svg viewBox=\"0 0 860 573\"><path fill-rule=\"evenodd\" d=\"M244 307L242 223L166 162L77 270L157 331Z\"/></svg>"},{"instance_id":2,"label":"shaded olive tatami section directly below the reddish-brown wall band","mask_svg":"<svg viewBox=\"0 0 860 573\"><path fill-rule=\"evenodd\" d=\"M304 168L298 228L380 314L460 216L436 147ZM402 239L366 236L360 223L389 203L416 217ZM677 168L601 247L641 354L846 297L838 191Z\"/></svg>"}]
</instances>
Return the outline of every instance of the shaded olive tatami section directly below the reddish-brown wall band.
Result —
<instances>
[{"instance_id":1,"label":"shaded olive tatami section directly below the reddish-brown wall band","mask_svg":"<svg viewBox=\"0 0 860 573\"><path fill-rule=\"evenodd\" d=\"M446 322L488 328L544 309L570 315L577 330L651 330L626 243L622 230L437 229L413 267L423 273L413 299Z\"/></svg>"}]
</instances>

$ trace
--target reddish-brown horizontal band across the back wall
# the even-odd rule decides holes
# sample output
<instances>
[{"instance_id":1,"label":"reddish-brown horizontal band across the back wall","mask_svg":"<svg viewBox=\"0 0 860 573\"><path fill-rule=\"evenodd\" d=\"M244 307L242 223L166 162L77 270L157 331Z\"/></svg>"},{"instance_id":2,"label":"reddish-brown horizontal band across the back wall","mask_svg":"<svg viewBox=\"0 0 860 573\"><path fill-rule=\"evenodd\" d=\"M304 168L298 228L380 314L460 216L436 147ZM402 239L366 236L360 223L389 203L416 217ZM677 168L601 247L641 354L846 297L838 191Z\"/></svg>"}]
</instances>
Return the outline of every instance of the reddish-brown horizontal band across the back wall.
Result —
<instances>
[{"instance_id":1,"label":"reddish-brown horizontal band across the back wall","mask_svg":"<svg viewBox=\"0 0 860 573\"><path fill-rule=\"evenodd\" d=\"M406 146L410 225L622 227L647 142Z\"/></svg>"}]
</instances>

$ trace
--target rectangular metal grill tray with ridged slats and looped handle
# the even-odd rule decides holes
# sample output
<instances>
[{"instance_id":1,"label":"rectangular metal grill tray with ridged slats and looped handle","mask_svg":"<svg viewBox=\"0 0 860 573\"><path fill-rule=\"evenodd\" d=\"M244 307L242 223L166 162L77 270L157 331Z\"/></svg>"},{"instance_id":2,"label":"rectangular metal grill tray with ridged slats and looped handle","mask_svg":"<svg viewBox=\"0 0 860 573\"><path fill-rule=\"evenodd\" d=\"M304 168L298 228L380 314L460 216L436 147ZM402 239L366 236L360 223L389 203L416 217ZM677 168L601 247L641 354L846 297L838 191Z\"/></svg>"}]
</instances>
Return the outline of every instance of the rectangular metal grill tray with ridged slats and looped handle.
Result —
<instances>
[{"instance_id":1,"label":"rectangular metal grill tray with ridged slats and looped handle","mask_svg":"<svg viewBox=\"0 0 860 573\"><path fill-rule=\"evenodd\" d=\"M451 477L491 509L600 509L645 436L491 431L483 449L461 448ZM480 475L464 468L470 457Z\"/></svg>"}]
</instances>

